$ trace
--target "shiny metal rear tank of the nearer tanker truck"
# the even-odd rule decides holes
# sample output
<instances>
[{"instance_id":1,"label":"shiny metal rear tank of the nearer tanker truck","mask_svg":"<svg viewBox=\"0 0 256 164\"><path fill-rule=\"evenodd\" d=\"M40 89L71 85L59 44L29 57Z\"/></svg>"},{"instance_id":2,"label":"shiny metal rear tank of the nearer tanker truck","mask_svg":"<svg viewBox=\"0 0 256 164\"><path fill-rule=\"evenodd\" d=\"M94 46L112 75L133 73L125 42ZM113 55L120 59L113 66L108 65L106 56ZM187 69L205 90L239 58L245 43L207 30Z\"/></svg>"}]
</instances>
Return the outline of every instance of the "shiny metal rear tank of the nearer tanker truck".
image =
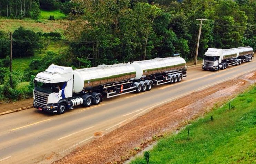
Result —
<instances>
[{"instance_id":1,"label":"shiny metal rear tank of the nearer tanker truck","mask_svg":"<svg viewBox=\"0 0 256 164\"><path fill-rule=\"evenodd\" d=\"M132 65L136 69L136 80L158 73L170 73L183 70L186 61L182 57L155 58L152 60L135 61Z\"/></svg>"}]
</instances>

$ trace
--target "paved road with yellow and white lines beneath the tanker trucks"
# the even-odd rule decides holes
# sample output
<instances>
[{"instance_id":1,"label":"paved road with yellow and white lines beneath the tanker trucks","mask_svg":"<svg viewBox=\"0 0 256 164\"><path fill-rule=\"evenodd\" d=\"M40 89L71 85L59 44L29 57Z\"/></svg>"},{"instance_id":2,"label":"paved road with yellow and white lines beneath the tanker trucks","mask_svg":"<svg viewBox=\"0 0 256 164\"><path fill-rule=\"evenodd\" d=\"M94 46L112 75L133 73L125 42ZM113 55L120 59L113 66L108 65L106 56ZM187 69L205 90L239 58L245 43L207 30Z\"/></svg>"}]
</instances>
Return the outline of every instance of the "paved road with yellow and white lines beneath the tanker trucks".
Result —
<instances>
[{"instance_id":1,"label":"paved road with yellow and white lines beneath the tanker trucks","mask_svg":"<svg viewBox=\"0 0 256 164\"><path fill-rule=\"evenodd\" d=\"M37 109L0 116L0 164L51 163L75 148L127 122L194 91L206 89L250 71L256 60L218 72L189 67L180 83L154 86L144 93L129 93L89 108L76 107L63 115ZM175 105L175 104L173 104Z\"/></svg>"}]
</instances>

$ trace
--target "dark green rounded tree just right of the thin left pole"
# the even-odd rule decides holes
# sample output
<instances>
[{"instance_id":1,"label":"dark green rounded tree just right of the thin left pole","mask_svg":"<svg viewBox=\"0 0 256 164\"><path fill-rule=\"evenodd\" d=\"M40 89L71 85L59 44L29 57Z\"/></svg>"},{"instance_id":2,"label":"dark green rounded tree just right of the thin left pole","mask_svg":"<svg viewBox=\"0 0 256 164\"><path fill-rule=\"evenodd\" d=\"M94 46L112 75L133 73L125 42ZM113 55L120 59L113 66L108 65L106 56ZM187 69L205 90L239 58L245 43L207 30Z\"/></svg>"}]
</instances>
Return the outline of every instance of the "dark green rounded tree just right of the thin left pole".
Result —
<instances>
[{"instance_id":1,"label":"dark green rounded tree just right of the thin left pole","mask_svg":"<svg viewBox=\"0 0 256 164\"><path fill-rule=\"evenodd\" d=\"M39 50L39 36L32 30L19 27L13 32L13 57L33 56Z\"/></svg>"}]
</instances>

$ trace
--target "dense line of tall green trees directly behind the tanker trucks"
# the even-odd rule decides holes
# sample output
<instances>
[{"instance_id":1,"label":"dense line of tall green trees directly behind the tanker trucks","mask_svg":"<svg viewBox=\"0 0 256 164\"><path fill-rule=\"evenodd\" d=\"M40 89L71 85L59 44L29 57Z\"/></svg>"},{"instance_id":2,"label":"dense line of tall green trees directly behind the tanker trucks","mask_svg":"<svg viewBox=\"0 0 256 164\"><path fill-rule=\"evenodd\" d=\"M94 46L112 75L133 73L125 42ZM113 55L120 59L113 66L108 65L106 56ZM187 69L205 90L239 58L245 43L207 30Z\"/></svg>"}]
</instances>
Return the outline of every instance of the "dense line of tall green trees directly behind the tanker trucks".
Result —
<instances>
[{"instance_id":1,"label":"dense line of tall green trees directly behind the tanker trucks","mask_svg":"<svg viewBox=\"0 0 256 164\"><path fill-rule=\"evenodd\" d=\"M193 59L208 47L256 48L256 2L251 0L70 1L70 53L101 63L171 56Z\"/></svg>"}]
</instances>

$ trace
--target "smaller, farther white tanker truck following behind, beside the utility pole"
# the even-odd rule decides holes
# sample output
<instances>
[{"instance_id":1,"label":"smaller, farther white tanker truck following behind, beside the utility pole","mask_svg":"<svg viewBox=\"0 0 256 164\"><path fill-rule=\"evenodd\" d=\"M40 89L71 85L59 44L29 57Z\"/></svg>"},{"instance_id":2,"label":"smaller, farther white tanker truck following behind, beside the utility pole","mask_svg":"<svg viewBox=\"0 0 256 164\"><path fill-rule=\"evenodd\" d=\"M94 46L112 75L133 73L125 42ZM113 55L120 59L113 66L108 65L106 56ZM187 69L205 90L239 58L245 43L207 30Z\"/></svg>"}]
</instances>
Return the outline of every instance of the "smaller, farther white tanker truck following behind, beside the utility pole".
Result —
<instances>
[{"instance_id":1,"label":"smaller, farther white tanker truck following behind, beside the utility pole","mask_svg":"<svg viewBox=\"0 0 256 164\"><path fill-rule=\"evenodd\" d=\"M253 59L251 47L238 47L231 49L209 48L204 54L204 70L226 69L228 66L240 65L242 62L250 62Z\"/></svg>"}]
</instances>

